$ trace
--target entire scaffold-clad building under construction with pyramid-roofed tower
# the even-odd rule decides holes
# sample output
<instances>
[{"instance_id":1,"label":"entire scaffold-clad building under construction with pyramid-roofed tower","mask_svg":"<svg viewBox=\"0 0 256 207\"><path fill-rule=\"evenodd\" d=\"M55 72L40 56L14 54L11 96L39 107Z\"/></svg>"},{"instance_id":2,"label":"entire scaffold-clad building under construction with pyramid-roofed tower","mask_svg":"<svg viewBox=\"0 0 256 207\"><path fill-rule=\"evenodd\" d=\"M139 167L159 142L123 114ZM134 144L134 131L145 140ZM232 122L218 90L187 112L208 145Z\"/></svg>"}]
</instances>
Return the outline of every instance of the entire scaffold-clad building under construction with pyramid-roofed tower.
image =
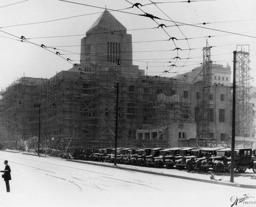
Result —
<instances>
[{"instance_id":1,"label":"entire scaffold-clad building under construction with pyramid-roofed tower","mask_svg":"<svg viewBox=\"0 0 256 207\"><path fill-rule=\"evenodd\" d=\"M105 10L81 40L80 64L49 80L23 77L1 92L0 139L114 147L118 118L119 147L197 146L205 83L148 76L132 60L132 36ZM205 145L231 135L230 88L212 86L207 95Z\"/></svg>"}]
</instances>

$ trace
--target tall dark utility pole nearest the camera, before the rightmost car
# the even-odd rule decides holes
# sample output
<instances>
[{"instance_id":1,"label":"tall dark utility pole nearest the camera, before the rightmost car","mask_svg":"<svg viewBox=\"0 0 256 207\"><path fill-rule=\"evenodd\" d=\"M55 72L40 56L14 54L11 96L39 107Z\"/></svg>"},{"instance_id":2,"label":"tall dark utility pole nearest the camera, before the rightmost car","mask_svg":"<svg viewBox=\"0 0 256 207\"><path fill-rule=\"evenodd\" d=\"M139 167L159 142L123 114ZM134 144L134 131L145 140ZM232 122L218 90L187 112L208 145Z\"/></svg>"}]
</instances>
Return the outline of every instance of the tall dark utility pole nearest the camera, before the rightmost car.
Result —
<instances>
[{"instance_id":1,"label":"tall dark utility pole nearest the camera, before the rightmost car","mask_svg":"<svg viewBox=\"0 0 256 207\"><path fill-rule=\"evenodd\" d=\"M237 51L233 51L233 100L232 100L232 138L231 138L231 170L230 183L234 182L234 142L236 136L236 64Z\"/></svg>"}]
</instances>

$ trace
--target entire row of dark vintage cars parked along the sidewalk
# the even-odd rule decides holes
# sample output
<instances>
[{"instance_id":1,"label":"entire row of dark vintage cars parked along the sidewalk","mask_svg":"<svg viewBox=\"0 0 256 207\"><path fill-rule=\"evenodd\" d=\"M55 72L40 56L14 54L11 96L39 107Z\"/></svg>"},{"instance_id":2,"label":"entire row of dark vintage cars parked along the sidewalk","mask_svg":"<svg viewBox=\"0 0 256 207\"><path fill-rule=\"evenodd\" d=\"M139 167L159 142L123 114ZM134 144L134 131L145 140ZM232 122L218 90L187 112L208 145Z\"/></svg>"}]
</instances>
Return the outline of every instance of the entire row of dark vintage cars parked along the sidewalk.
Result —
<instances>
[{"instance_id":1,"label":"entire row of dark vintage cars parked along the sidewalk","mask_svg":"<svg viewBox=\"0 0 256 207\"><path fill-rule=\"evenodd\" d=\"M256 173L255 151L251 148L234 150L234 172L252 169ZM94 162L115 161L115 149L104 148L76 150L73 159ZM231 149L223 147L173 147L173 148L117 148L118 164L137 165L179 170L230 172Z\"/></svg>"}]
</instances>

